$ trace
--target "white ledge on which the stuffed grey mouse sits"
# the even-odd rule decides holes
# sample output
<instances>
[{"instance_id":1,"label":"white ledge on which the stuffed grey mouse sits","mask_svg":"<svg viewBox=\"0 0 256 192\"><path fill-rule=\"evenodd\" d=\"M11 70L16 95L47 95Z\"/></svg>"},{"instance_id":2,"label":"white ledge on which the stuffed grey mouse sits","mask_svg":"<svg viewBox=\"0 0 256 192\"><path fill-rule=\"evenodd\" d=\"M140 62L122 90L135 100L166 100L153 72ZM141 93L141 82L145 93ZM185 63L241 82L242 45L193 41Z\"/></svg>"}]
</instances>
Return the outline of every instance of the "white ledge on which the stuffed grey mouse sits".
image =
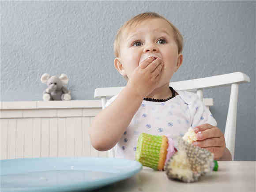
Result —
<instances>
[{"instance_id":1,"label":"white ledge on which the stuffed grey mouse sits","mask_svg":"<svg viewBox=\"0 0 256 192\"><path fill-rule=\"evenodd\" d=\"M101 108L100 100L0 102L0 109L75 109Z\"/></svg>"}]
</instances>

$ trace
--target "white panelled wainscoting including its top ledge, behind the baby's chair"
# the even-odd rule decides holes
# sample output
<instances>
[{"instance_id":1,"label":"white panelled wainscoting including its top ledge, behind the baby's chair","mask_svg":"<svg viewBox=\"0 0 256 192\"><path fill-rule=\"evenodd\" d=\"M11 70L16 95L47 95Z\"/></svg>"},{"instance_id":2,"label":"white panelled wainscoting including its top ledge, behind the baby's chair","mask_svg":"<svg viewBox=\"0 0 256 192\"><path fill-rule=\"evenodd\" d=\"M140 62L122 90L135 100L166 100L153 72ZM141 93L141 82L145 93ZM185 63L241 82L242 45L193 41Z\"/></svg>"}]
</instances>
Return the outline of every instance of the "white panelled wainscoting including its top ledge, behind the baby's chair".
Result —
<instances>
[{"instance_id":1,"label":"white panelled wainscoting including its top ledge, behind the baby's chair","mask_svg":"<svg viewBox=\"0 0 256 192\"><path fill-rule=\"evenodd\" d=\"M212 98L204 104L213 105ZM88 129L100 100L0 102L0 159L108 157L90 144Z\"/></svg>"}]
</instances>

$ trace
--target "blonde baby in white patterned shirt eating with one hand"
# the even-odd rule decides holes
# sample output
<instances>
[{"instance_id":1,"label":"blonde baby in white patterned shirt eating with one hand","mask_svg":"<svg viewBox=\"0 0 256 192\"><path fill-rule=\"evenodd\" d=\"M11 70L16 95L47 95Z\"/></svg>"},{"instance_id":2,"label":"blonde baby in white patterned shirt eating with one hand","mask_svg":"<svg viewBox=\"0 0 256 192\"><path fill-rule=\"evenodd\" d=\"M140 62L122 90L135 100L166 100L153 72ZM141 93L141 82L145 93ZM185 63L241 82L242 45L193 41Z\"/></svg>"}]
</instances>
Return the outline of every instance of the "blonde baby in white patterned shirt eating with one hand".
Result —
<instances>
[{"instance_id":1,"label":"blonde baby in white patterned shirt eating with one hand","mask_svg":"<svg viewBox=\"0 0 256 192\"><path fill-rule=\"evenodd\" d=\"M137 15L118 30L114 66L128 82L90 127L95 149L116 146L117 158L134 160L140 133L171 136L177 147L177 137L193 127L194 145L213 152L215 159L231 160L223 133L198 96L169 87L181 67L182 49L180 31L154 12Z\"/></svg>"}]
</instances>

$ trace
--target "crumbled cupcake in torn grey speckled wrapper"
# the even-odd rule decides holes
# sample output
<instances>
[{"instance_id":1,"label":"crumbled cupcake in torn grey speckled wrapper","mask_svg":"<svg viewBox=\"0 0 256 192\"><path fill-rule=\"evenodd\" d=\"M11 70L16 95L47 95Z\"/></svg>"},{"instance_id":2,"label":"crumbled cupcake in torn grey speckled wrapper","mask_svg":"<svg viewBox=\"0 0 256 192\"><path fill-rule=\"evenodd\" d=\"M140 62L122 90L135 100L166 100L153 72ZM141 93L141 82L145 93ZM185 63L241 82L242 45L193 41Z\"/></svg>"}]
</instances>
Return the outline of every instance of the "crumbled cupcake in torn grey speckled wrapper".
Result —
<instances>
[{"instance_id":1,"label":"crumbled cupcake in torn grey speckled wrapper","mask_svg":"<svg viewBox=\"0 0 256 192\"><path fill-rule=\"evenodd\" d=\"M218 170L218 162L214 160L214 154L194 146L193 141L196 141L196 133L189 128L178 141L179 151L166 162L165 170L169 179L195 182L212 170Z\"/></svg>"}]
</instances>

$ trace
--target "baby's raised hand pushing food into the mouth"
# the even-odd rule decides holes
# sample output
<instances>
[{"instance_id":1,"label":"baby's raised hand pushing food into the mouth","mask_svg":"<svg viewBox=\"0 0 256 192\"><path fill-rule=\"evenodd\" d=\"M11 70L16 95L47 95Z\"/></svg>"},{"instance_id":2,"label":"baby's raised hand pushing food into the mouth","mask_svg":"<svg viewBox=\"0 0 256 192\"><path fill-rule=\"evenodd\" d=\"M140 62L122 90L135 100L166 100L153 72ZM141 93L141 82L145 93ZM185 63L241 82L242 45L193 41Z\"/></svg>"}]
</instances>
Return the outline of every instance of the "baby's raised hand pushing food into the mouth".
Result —
<instances>
[{"instance_id":1,"label":"baby's raised hand pushing food into the mouth","mask_svg":"<svg viewBox=\"0 0 256 192\"><path fill-rule=\"evenodd\" d=\"M142 98L146 97L157 87L163 65L160 58L149 57L143 60L133 71L128 80L128 87L131 86L132 90Z\"/></svg>"}]
</instances>

